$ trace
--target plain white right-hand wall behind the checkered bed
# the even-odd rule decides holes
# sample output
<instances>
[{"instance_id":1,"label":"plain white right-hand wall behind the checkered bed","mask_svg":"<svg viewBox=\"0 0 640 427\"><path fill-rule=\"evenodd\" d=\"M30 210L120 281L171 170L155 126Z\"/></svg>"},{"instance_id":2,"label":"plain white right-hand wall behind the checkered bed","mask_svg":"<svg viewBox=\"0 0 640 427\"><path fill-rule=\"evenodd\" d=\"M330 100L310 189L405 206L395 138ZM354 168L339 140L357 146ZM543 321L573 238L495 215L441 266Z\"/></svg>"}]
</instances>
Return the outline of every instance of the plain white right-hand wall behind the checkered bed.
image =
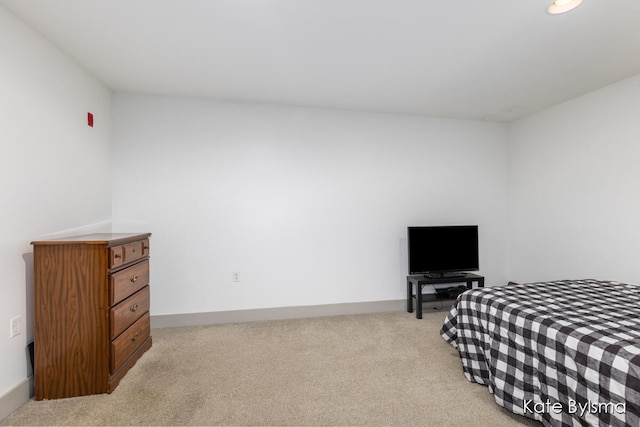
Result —
<instances>
[{"instance_id":1,"label":"plain white right-hand wall behind the checkered bed","mask_svg":"<svg viewBox=\"0 0 640 427\"><path fill-rule=\"evenodd\" d=\"M640 76L510 125L511 277L640 283Z\"/></svg>"}]
</instances>

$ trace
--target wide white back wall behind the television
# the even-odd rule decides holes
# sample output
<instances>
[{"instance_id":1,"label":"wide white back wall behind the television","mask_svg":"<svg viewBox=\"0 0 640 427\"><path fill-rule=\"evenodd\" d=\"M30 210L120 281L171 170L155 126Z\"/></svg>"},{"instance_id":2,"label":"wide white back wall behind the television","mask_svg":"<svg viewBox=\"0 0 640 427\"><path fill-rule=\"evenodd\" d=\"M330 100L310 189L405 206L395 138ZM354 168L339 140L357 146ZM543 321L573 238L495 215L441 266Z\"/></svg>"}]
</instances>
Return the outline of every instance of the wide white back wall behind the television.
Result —
<instances>
[{"instance_id":1,"label":"wide white back wall behind the television","mask_svg":"<svg viewBox=\"0 0 640 427\"><path fill-rule=\"evenodd\" d=\"M504 124L129 94L113 122L155 315L403 299L408 225L479 224L506 280Z\"/></svg>"}]
</instances>

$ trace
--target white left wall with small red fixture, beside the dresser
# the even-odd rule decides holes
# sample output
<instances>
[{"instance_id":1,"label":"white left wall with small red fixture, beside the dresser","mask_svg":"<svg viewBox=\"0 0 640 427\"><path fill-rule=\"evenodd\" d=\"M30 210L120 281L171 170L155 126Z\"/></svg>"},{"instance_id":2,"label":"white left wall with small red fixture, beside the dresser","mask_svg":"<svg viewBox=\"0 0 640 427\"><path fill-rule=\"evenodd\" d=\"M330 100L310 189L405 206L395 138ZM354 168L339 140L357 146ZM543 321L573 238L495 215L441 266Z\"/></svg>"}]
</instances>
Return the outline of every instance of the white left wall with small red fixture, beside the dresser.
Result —
<instances>
[{"instance_id":1,"label":"white left wall with small red fixture, beside the dresser","mask_svg":"<svg viewBox=\"0 0 640 427\"><path fill-rule=\"evenodd\" d=\"M2 6L0 123L2 398L31 372L30 242L83 226L104 229L111 215L110 91ZM9 338L15 316L22 334Z\"/></svg>"}]
</instances>

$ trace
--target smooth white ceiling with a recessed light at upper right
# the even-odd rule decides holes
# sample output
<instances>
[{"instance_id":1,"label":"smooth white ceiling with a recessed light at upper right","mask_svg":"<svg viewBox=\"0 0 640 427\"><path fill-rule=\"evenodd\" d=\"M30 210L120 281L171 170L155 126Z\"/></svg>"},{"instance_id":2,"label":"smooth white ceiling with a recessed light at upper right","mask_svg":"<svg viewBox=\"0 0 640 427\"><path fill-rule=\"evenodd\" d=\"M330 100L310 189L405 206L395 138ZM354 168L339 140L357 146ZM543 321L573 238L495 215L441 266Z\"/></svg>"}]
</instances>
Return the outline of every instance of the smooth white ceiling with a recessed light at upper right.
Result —
<instances>
[{"instance_id":1,"label":"smooth white ceiling with a recessed light at upper right","mask_svg":"<svg viewBox=\"0 0 640 427\"><path fill-rule=\"evenodd\" d=\"M0 0L115 91L498 121L640 74L639 0L549 3Z\"/></svg>"}]
</instances>

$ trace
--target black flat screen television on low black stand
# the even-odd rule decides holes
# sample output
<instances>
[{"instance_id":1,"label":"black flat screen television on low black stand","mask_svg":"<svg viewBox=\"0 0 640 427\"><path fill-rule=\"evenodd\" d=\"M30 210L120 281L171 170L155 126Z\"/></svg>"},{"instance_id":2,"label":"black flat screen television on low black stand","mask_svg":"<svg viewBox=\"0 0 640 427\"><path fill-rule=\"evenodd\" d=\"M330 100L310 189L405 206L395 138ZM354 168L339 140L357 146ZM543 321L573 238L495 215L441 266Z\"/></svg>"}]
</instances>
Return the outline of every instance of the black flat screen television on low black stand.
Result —
<instances>
[{"instance_id":1,"label":"black flat screen television on low black stand","mask_svg":"<svg viewBox=\"0 0 640 427\"><path fill-rule=\"evenodd\" d=\"M407 227L409 274L456 276L480 269L478 226Z\"/></svg>"}]
</instances>

